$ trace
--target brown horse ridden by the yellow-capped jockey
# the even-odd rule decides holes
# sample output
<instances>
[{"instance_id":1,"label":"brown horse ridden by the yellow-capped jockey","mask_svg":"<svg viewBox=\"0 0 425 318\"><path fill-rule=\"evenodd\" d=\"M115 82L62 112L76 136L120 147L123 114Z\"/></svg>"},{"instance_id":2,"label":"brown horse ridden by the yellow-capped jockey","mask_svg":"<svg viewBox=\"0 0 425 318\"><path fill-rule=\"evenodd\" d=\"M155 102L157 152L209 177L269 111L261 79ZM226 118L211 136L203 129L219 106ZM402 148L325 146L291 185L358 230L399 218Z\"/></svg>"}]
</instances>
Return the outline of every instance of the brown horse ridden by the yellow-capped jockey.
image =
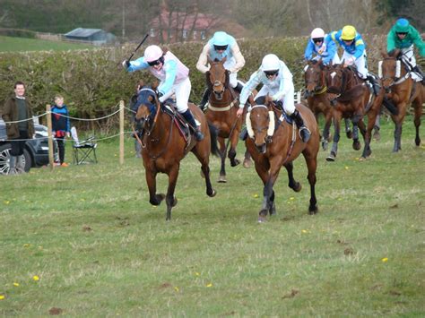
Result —
<instances>
[{"instance_id":1,"label":"brown horse ridden by the yellow-capped jockey","mask_svg":"<svg viewBox=\"0 0 425 318\"><path fill-rule=\"evenodd\" d=\"M354 67L344 67L341 64L330 64L326 73L327 91L330 93L334 119L334 143L327 161L334 161L338 151L340 139L341 118L351 118L352 148L360 150L359 128L365 145L361 159L366 159L372 153L370 141L376 118L381 110L384 99L384 90L380 89L377 96L370 92L369 86L362 80ZM363 117L368 116L368 126L363 122Z\"/></svg>"}]
</instances>

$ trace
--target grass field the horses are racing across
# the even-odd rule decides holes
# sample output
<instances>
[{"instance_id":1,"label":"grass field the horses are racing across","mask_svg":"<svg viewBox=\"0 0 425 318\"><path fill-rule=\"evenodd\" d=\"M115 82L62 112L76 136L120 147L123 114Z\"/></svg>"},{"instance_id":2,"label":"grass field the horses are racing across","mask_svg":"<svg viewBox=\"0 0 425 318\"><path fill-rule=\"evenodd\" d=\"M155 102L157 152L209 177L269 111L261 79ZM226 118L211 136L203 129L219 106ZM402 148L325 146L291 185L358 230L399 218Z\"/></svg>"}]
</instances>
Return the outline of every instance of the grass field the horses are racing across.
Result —
<instances>
[{"instance_id":1,"label":"grass field the horses are racing across","mask_svg":"<svg viewBox=\"0 0 425 318\"><path fill-rule=\"evenodd\" d=\"M212 159L209 198L193 155L166 222L131 139L122 167L117 142L100 142L97 165L3 176L0 315L424 316L425 147L412 127L408 118L397 154L392 123L365 161L345 138L334 163L321 150L316 216L296 160L302 191L283 169L277 215L263 224L254 168L228 168L217 184ZM160 192L166 185L160 176Z\"/></svg>"}]
</instances>

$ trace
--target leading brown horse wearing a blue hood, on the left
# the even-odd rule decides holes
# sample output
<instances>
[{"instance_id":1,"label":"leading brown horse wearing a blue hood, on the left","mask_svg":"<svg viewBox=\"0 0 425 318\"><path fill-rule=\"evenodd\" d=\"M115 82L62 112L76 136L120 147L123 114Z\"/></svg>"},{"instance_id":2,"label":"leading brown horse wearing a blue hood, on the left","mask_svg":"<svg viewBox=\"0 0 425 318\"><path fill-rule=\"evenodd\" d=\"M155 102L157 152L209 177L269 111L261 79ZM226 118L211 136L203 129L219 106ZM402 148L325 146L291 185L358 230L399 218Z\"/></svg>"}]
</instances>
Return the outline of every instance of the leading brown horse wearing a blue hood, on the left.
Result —
<instances>
[{"instance_id":1,"label":"leading brown horse wearing a blue hood, on the left","mask_svg":"<svg viewBox=\"0 0 425 318\"><path fill-rule=\"evenodd\" d=\"M143 87L140 90L138 103L140 106L137 109L135 120L142 127L139 134L141 135L143 166L149 188L149 202L152 205L159 205L162 200L166 199L166 219L169 220L171 219L171 209L178 202L174 192L180 161L186 157L189 151L192 151L201 162L206 194L210 197L216 194L212 189L209 168L210 152L217 152L216 136L210 134L204 113L195 104L189 103L188 107L201 123L202 133L204 133L204 140L201 142L196 142L194 137L184 133L184 128L178 125L178 112L167 111L166 106L160 105L158 96L152 88ZM171 108L169 107L169 109ZM167 195L156 193L158 172L169 176Z\"/></svg>"}]
</instances>

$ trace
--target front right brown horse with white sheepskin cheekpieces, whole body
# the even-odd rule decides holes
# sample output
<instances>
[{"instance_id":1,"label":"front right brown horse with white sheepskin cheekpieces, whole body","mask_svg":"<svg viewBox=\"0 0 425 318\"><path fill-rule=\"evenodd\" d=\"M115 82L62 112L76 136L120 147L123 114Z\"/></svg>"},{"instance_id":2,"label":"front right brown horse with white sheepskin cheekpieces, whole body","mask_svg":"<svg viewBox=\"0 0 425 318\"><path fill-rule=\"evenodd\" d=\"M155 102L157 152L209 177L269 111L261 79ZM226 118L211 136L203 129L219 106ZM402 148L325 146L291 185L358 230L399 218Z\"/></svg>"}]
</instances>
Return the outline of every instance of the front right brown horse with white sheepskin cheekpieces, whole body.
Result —
<instances>
[{"instance_id":1,"label":"front right brown horse with white sheepskin cheekpieces, whole body","mask_svg":"<svg viewBox=\"0 0 425 318\"><path fill-rule=\"evenodd\" d=\"M317 152L319 149L319 132L315 116L308 107L297 104L304 123L311 132L308 142L301 142L295 123L291 125L285 120L275 128L276 117L281 116L280 110L273 107L272 100L267 97L265 105L255 105L247 115L247 150L254 159L256 173L263 184L263 207L259 212L258 221L263 222L267 213L275 213L273 185L284 166L288 171L289 187L299 192L301 185L293 176L292 161L302 153L308 168L308 183L310 184L310 202L308 211L317 213L317 199L315 193Z\"/></svg>"}]
</instances>

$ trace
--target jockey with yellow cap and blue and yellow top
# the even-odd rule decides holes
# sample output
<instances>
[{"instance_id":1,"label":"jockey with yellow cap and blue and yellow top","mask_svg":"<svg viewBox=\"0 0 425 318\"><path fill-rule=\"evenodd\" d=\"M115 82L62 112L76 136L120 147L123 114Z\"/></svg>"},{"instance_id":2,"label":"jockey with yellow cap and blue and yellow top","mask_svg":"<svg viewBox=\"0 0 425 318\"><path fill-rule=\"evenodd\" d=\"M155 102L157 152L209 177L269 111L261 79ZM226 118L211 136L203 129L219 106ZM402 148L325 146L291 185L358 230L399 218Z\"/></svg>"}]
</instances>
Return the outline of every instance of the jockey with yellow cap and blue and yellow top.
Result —
<instances>
[{"instance_id":1,"label":"jockey with yellow cap and blue and yellow top","mask_svg":"<svg viewBox=\"0 0 425 318\"><path fill-rule=\"evenodd\" d=\"M352 25L346 25L342 30L330 33L331 39L343 47L344 67L355 64L357 72L363 80L368 80L372 84L373 91L377 95L379 87L377 81L368 72L366 61L366 45Z\"/></svg>"}]
</instances>

